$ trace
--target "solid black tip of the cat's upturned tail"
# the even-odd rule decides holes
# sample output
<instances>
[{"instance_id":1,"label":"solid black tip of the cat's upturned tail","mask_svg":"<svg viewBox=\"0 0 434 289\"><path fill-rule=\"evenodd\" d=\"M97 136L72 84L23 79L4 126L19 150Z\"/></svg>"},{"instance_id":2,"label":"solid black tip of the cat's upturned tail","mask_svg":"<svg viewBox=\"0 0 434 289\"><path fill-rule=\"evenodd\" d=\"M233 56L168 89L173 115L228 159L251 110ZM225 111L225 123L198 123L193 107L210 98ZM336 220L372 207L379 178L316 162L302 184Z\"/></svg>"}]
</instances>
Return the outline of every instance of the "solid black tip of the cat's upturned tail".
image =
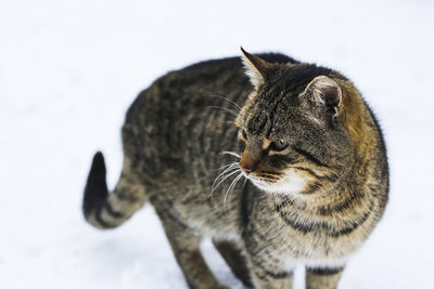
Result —
<instances>
[{"instance_id":1,"label":"solid black tip of the cat's upturned tail","mask_svg":"<svg viewBox=\"0 0 434 289\"><path fill-rule=\"evenodd\" d=\"M92 166L85 187L85 197L82 200L85 215L88 215L90 211L101 207L108 195L105 173L104 156L101 152L98 152L93 156Z\"/></svg>"}]
</instances>

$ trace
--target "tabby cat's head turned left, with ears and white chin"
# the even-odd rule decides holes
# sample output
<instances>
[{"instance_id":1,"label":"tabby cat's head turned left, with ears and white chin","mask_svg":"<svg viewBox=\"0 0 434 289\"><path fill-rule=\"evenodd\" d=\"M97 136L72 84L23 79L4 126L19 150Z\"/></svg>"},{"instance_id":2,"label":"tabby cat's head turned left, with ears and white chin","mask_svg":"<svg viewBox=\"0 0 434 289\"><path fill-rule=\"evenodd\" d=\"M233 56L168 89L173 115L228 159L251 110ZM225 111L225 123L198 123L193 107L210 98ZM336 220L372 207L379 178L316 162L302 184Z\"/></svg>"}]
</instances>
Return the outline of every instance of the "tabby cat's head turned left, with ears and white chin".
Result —
<instances>
[{"instance_id":1,"label":"tabby cat's head turned left, with ears and white chin","mask_svg":"<svg viewBox=\"0 0 434 289\"><path fill-rule=\"evenodd\" d=\"M310 194L350 165L354 144L340 121L341 74L314 64L268 63L243 51L254 91L242 107L240 167L257 187Z\"/></svg>"}]
</instances>

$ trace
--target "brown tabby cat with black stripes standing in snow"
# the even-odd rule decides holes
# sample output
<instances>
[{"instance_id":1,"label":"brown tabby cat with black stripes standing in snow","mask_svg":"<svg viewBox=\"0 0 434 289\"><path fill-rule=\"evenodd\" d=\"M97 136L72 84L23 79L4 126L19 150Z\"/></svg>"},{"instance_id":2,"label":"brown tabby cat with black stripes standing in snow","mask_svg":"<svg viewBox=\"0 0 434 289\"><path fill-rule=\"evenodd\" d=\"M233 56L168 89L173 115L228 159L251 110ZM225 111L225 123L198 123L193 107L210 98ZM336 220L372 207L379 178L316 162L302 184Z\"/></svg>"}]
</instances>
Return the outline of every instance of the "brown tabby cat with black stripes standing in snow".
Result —
<instances>
[{"instance_id":1,"label":"brown tabby cat with black stripes standing in snow","mask_svg":"<svg viewBox=\"0 0 434 289\"><path fill-rule=\"evenodd\" d=\"M139 94L118 183L108 194L98 152L85 218L113 228L151 202L190 288L228 288L201 254L203 237L247 287L292 288L303 264L307 288L336 288L387 202L380 126L342 74L241 50Z\"/></svg>"}]
</instances>

